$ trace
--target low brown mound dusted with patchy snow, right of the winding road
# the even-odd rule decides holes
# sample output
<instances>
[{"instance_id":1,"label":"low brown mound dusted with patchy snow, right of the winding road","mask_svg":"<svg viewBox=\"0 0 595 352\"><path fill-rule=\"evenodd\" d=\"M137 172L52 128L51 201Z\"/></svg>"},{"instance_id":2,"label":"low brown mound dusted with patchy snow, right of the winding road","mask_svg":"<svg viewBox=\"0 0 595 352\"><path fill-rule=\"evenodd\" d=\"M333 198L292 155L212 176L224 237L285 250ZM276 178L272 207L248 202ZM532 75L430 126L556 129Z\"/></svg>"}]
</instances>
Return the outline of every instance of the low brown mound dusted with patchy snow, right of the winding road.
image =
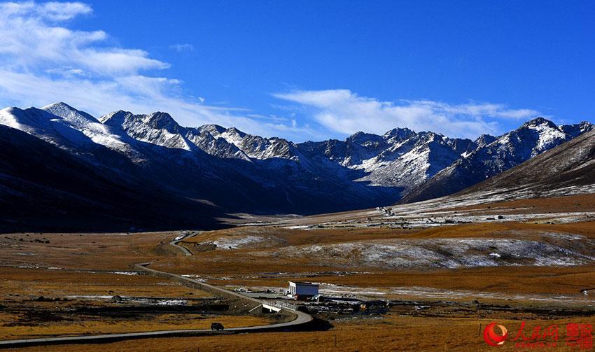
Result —
<instances>
[{"instance_id":1,"label":"low brown mound dusted with patchy snow, right of the winding road","mask_svg":"<svg viewBox=\"0 0 595 352\"><path fill-rule=\"evenodd\" d=\"M540 241L522 239L414 239L357 241L282 248L321 264L382 268L460 268L500 265L581 265L593 258Z\"/></svg>"}]
</instances>

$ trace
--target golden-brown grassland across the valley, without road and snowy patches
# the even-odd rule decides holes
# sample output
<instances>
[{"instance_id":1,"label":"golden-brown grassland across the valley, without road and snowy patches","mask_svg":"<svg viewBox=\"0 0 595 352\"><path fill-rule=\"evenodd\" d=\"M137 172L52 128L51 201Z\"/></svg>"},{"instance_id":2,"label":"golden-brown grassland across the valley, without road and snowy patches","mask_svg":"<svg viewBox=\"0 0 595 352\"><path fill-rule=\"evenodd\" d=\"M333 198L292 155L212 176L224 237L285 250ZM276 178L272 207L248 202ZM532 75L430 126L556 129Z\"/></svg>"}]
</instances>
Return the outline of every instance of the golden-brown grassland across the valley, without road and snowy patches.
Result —
<instances>
[{"instance_id":1,"label":"golden-brown grassland across the valley, without road and snowy patches","mask_svg":"<svg viewBox=\"0 0 595 352\"><path fill-rule=\"evenodd\" d=\"M507 207L512 212L522 211L595 211L595 197L563 197L547 201L520 200L489 206L475 206L477 212L494 207ZM514 208L514 209L513 209ZM522 209L527 208L527 209ZM469 209L467 209L469 210ZM505 212L503 212L505 213ZM300 220L316 223L353 214L317 216ZM362 215L364 214L364 215ZM227 230L204 232L185 241L184 245L195 253L184 257L169 241L180 232L154 232L142 234L1 234L0 235L0 306L27 307L42 311L44 307L56 309L60 304L98 304L102 302L33 302L31 299L65 297L68 295L123 295L141 297L210 297L181 283L151 275L118 275L113 271L137 271L135 263L153 262L151 267L179 274L197 274L209 283L221 286L283 287L287 281L304 280L353 286L356 288L434 288L468 291L463 300L470 302L473 293L502 295L505 304L524 307L541 304L555 306L553 302L530 303L514 299L515 295L564 295L583 297L580 290L595 287L595 264L572 267L479 267L461 269L383 269L379 267L349 267L338 262L315 263L308 258L284 258L272 254L287 246L311 244L339 244L346 241L386 239L437 238L523 238L549 241L542 233L580 234L595 239L595 222L545 223L479 223L432 227L428 229L390 228L323 228L310 231L283 228L275 225L235 227ZM234 250L197 248L197 244L220 237L255 235L267 241L250 244ZM22 239L22 241L20 240ZM38 241L36 241L38 240ZM43 242L41 242L43 241ZM45 243L45 241L49 241ZM27 268L29 267L29 268ZM32 268L37 267L37 268ZM47 269L55 267L59 269ZM46 268L46 269L43 269ZM332 272L349 272L337 275ZM267 275L266 273L286 273ZM193 295L190 295L193 293ZM389 295L385 297L391 297ZM424 300L423 297L405 297ZM482 302L489 300L480 299ZM496 298L497 300L497 298ZM563 301L563 300L562 300ZM502 303L502 302L500 302ZM561 302L563 303L563 302ZM102 306L103 307L103 306ZM50 309L50 310L51 310ZM331 320L332 328L316 332L269 332L245 335L143 339L111 344L86 344L31 348L31 351L262 351L288 349L296 346L300 351L385 351L385 350L482 350L487 346L479 335L479 324L496 320L511 329L519 325L514 316L498 314L475 316L400 316L391 313L384 317ZM213 317L226 327L260 325L267 318L253 316L218 315ZM264 320L263 320L264 319ZM534 319L529 323L551 325L595 323L587 314L572 318ZM15 325L23 321L18 312L0 310L0 338L31 337L56 334L83 334L96 332L132 332L165 329L208 328L211 316L201 314L158 313L126 318L78 316L72 321L54 321ZM337 346L335 347L335 337ZM511 351L507 344L501 351ZM493 351L493 349L491 349ZM561 349L564 351L564 349Z\"/></svg>"}]
</instances>

